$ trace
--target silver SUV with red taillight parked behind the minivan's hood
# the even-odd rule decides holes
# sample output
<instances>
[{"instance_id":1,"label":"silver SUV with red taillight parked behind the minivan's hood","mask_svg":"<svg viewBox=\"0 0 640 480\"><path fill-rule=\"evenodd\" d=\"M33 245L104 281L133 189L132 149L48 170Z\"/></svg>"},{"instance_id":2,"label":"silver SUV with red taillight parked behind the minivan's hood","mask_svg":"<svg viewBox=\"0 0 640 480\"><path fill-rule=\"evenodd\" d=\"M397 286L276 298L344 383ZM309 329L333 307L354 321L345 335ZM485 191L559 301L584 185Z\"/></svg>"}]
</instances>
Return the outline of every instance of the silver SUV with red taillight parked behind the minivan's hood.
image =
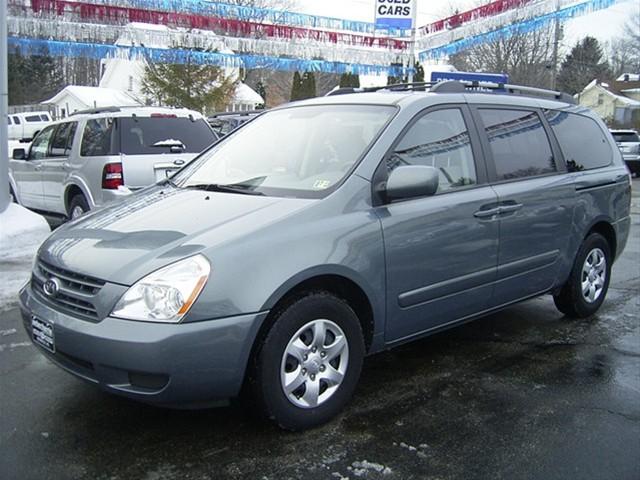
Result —
<instances>
[{"instance_id":1,"label":"silver SUV with red taillight parked behind the minivan's hood","mask_svg":"<svg viewBox=\"0 0 640 480\"><path fill-rule=\"evenodd\" d=\"M109 107L45 127L9 162L21 205L75 218L162 180L217 140L202 115L186 109Z\"/></svg>"}]
</instances>

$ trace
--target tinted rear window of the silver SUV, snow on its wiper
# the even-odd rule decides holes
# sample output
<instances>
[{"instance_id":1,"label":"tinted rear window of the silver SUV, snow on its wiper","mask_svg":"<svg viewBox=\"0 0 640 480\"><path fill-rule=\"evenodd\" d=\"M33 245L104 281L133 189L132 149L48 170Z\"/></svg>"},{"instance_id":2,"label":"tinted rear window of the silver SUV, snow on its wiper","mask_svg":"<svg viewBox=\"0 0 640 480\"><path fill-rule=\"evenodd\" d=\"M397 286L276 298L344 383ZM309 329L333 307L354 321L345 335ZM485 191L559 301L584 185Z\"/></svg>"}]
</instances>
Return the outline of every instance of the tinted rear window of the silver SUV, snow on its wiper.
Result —
<instances>
[{"instance_id":1,"label":"tinted rear window of the silver SUV, snow on its wiper","mask_svg":"<svg viewBox=\"0 0 640 480\"><path fill-rule=\"evenodd\" d=\"M122 153L127 155L170 153L171 145L176 144L184 145L183 152L200 153L217 140L202 118L191 121L173 116L126 117L118 122Z\"/></svg>"}]
</instances>

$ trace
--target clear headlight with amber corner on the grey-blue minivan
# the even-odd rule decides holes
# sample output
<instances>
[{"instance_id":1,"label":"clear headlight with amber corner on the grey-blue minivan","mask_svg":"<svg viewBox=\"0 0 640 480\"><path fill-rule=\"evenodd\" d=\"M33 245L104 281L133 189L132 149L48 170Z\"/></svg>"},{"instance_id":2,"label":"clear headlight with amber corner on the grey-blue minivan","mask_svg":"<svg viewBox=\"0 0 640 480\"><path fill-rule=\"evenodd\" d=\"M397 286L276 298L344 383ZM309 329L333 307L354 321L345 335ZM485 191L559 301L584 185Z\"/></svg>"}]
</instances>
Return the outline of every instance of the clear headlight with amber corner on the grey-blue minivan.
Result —
<instances>
[{"instance_id":1,"label":"clear headlight with amber corner on the grey-blue minivan","mask_svg":"<svg viewBox=\"0 0 640 480\"><path fill-rule=\"evenodd\" d=\"M202 255L156 270L125 292L111 316L177 323L200 295L210 271L211 265Z\"/></svg>"}]
</instances>

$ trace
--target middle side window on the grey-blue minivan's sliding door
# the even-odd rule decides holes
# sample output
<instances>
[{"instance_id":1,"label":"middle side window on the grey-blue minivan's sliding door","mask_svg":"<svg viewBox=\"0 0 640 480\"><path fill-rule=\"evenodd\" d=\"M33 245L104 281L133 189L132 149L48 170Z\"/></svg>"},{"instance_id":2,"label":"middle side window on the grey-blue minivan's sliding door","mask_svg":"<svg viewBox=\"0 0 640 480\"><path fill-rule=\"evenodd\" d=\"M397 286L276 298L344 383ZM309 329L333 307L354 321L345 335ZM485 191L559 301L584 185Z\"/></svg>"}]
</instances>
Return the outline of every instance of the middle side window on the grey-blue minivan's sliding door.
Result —
<instances>
[{"instance_id":1,"label":"middle side window on the grey-blue minivan's sliding door","mask_svg":"<svg viewBox=\"0 0 640 480\"><path fill-rule=\"evenodd\" d=\"M480 109L498 180L555 172L549 139L536 112Z\"/></svg>"}]
</instances>

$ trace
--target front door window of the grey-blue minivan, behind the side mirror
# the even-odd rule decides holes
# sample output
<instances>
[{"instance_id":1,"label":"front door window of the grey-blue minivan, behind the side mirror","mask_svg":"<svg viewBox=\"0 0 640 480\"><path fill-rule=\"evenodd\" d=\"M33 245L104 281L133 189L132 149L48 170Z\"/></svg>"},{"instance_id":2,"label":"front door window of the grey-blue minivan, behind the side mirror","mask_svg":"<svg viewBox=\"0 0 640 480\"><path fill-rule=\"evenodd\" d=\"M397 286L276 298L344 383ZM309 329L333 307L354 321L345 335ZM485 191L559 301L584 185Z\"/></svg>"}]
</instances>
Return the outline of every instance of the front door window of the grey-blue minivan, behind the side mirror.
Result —
<instances>
[{"instance_id":1,"label":"front door window of the grey-blue minivan, behind the side mirror","mask_svg":"<svg viewBox=\"0 0 640 480\"><path fill-rule=\"evenodd\" d=\"M438 169L438 193L477 183L469 132L457 108L436 110L405 133L387 160L391 172L400 165Z\"/></svg>"}]
</instances>

